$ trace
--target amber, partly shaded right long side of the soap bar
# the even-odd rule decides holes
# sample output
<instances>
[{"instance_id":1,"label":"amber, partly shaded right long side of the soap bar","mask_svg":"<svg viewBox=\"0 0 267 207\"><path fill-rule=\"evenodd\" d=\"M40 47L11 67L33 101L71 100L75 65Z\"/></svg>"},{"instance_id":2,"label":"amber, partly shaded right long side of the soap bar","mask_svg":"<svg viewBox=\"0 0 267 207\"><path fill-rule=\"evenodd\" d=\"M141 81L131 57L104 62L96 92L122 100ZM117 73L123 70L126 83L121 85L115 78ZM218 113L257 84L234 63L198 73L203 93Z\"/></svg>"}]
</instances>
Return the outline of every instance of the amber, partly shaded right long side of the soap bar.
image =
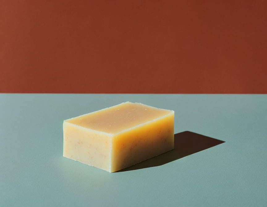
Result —
<instances>
[{"instance_id":1,"label":"amber, partly shaded right long side of the soap bar","mask_svg":"<svg viewBox=\"0 0 267 207\"><path fill-rule=\"evenodd\" d=\"M111 172L174 148L174 112L116 134L112 140Z\"/></svg>"}]
</instances>

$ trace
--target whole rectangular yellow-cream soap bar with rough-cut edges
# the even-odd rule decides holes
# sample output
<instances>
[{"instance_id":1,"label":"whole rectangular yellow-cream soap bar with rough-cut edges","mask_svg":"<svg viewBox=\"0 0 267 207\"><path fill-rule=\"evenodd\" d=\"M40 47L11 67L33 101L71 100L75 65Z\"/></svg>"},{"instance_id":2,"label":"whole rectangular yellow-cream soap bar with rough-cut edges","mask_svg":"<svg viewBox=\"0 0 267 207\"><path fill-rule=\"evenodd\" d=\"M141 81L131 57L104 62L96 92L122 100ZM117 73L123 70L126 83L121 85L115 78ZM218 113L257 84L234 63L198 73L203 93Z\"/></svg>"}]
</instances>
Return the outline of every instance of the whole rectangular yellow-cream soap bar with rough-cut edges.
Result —
<instances>
[{"instance_id":1,"label":"whole rectangular yellow-cream soap bar with rough-cut edges","mask_svg":"<svg viewBox=\"0 0 267 207\"><path fill-rule=\"evenodd\" d=\"M63 156L115 172L174 148L174 111L125 102L63 122Z\"/></svg>"}]
</instances>

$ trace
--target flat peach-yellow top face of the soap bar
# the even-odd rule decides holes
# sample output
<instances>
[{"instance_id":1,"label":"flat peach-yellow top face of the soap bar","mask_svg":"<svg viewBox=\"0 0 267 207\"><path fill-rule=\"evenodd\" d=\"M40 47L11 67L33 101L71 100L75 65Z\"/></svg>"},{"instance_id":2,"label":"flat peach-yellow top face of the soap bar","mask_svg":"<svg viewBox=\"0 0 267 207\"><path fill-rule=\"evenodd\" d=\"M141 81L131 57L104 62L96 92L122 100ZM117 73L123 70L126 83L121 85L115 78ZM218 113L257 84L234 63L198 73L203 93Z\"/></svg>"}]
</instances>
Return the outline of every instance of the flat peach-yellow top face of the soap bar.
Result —
<instances>
[{"instance_id":1,"label":"flat peach-yellow top face of the soap bar","mask_svg":"<svg viewBox=\"0 0 267 207\"><path fill-rule=\"evenodd\" d=\"M65 121L84 128L116 134L170 113L174 111L125 102Z\"/></svg>"}]
</instances>

